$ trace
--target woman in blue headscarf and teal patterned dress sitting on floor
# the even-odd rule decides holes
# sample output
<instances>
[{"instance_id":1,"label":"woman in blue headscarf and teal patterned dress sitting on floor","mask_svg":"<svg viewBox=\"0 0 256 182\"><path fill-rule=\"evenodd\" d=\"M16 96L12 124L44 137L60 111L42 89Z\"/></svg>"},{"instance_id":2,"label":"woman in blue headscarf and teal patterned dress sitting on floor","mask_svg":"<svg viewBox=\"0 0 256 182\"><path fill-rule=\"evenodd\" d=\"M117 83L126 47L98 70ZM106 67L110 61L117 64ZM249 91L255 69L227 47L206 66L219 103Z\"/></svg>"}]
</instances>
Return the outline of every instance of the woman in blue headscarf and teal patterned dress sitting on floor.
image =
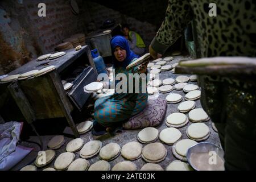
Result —
<instances>
[{"instance_id":1,"label":"woman in blue headscarf and teal patterned dress sitting on floor","mask_svg":"<svg viewBox=\"0 0 256 182\"><path fill-rule=\"evenodd\" d=\"M123 122L128 121L130 117L141 112L147 105L147 92L141 92L141 82L139 84L139 93L128 93L128 74L144 73L147 75L147 63L126 70L127 65L138 59L139 56L135 55L135 53L130 50L129 43L123 36L114 36L111 39L111 48L115 75L118 73L126 75L127 93L117 93L115 89L115 93L112 96L99 98L95 102L93 135L104 134L107 127L113 129L117 126L121 126ZM115 86L117 83L118 81L115 81Z\"/></svg>"}]
</instances>

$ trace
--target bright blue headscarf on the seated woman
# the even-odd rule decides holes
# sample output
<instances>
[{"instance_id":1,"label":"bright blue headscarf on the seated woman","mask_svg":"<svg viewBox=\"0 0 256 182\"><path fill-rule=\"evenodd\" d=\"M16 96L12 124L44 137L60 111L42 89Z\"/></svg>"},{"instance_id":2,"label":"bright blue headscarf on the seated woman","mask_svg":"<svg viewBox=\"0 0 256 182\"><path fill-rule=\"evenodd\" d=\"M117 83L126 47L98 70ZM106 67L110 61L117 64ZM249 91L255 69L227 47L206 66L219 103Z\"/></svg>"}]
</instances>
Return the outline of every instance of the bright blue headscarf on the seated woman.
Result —
<instances>
[{"instance_id":1,"label":"bright blue headscarf on the seated woman","mask_svg":"<svg viewBox=\"0 0 256 182\"><path fill-rule=\"evenodd\" d=\"M116 67L126 68L127 65L129 65L131 63L131 60L139 57L138 55L135 55L135 53L133 51L131 51L128 41L126 40L125 37L123 37L121 35L114 36L111 39L110 44L111 44L111 48L112 48L113 65L115 68ZM126 58L122 62L118 61L114 55L114 50L115 50L115 47L117 47L117 46L126 50Z\"/></svg>"}]
</instances>

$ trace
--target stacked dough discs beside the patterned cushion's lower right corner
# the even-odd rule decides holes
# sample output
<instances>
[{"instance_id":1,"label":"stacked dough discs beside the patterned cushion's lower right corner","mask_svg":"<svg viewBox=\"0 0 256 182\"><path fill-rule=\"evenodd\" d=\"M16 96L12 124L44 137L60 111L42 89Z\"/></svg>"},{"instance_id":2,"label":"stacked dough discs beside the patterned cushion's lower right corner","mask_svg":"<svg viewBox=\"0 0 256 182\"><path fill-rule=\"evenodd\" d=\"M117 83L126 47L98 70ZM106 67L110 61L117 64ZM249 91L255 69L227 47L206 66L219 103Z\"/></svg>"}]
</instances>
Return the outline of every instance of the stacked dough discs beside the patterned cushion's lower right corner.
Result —
<instances>
[{"instance_id":1,"label":"stacked dough discs beside the patterned cushion's lower right corner","mask_svg":"<svg viewBox=\"0 0 256 182\"><path fill-rule=\"evenodd\" d=\"M166 118L166 125L168 127L183 127L187 125L188 117L183 113L172 113Z\"/></svg>"}]
</instances>

